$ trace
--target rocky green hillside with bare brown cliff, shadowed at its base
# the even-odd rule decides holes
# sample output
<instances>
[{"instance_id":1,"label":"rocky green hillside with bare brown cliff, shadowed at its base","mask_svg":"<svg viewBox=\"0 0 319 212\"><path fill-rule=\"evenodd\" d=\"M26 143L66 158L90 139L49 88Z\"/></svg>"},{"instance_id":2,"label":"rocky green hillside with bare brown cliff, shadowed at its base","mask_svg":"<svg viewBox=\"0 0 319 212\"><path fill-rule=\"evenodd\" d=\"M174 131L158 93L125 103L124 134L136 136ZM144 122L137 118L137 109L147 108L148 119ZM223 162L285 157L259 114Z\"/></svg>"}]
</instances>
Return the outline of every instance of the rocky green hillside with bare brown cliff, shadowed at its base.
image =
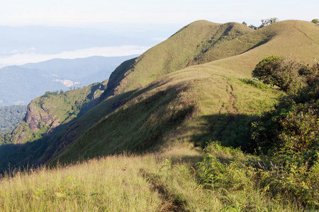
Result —
<instances>
[{"instance_id":1,"label":"rocky green hillside with bare brown cliff, shadowed at its base","mask_svg":"<svg viewBox=\"0 0 319 212\"><path fill-rule=\"evenodd\" d=\"M30 102L26 117L11 133L0 137L0 167L39 163L44 151L65 129L94 107L103 92L103 83L67 92L47 92Z\"/></svg>"}]
</instances>

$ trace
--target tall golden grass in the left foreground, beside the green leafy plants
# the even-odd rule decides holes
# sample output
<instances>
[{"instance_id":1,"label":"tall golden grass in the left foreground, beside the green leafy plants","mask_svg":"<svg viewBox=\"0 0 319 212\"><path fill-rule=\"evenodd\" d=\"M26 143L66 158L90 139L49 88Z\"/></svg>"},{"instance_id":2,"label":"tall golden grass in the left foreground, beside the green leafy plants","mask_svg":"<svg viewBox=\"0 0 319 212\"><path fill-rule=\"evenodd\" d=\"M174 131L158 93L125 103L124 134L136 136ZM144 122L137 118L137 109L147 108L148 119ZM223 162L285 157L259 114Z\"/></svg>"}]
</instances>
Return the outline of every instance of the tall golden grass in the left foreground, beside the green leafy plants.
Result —
<instances>
[{"instance_id":1,"label":"tall golden grass in the left foreground, beside the green leafy plants","mask_svg":"<svg viewBox=\"0 0 319 212\"><path fill-rule=\"evenodd\" d=\"M201 154L181 148L162 155L113 155L50 170L14 172L14 177L0 179L0 211L167 211L201 209L201 204L208 208L218 201L200 189L188 170L198 158ZM180 168L170 171L172 167L163 166L165 159Z\"/></svg>"}]
</instances>

